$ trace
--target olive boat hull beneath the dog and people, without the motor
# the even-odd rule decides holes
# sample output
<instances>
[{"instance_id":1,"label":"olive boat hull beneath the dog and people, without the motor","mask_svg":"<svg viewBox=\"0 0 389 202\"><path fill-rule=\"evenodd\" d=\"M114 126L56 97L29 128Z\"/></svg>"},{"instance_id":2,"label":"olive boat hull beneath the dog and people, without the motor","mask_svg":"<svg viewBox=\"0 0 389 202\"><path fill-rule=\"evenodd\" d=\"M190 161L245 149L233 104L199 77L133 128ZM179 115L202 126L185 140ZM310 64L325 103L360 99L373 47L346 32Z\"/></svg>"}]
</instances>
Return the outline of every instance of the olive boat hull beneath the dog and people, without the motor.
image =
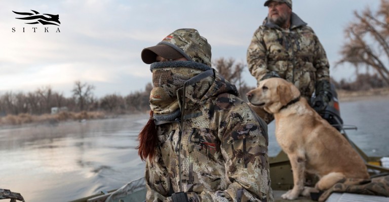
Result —
<instances>
[{"instance_id":1,"label":"olive boat hull beneath the dog and people, without the motor","mask_svg":"<svg viewBox=\"0 0 389 202\"><path fill-rule=\"evenodd\" d=\"M358 151L361 157L366 162L371 178L379 176L389 176L389 158L382 157L368 157L357 145L349 140L353 147ZM293 187L293 176L291 166L287 155L280 151L276 157L269 158L271 188L274 192L276 202L314 202L317 201L318 196L312 194L311 197L300 196L296 200L285 200L281 198L287 190ZM386 167L384 167L386 166ZM307 179L312 184L317 182L317 178ZM84 198L72 200L71 202L144 202L146 197L145 179L139 178L129 182L123 187L111 190L108 192L101 192L99 194L87 196ZM369 202L383 202L389 201L389 197L377 195L363 195L357 193L332 193L326 202L355 202L355 201L369 201Z\"/></svg>"}]
</instances>

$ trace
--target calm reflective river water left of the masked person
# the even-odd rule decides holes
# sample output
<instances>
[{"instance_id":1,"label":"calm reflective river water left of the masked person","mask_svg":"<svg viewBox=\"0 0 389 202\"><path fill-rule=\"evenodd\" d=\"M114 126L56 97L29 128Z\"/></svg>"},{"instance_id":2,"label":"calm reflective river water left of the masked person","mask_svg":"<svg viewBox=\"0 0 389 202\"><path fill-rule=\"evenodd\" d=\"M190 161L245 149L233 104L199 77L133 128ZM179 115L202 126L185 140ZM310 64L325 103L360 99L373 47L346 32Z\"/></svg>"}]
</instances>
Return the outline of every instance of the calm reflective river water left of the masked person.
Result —
<instances>
[{"instance_id":1,"label":"calm reflective river water left of the masked person","mask_svg":"<svg viewBox=\"0 0 389 202\"><path fill-rule=\"evenodd\" d=\"M147 116L0 130L0 188L69 201L143 176L136 138Z\"/></svg>"}]
</instances>

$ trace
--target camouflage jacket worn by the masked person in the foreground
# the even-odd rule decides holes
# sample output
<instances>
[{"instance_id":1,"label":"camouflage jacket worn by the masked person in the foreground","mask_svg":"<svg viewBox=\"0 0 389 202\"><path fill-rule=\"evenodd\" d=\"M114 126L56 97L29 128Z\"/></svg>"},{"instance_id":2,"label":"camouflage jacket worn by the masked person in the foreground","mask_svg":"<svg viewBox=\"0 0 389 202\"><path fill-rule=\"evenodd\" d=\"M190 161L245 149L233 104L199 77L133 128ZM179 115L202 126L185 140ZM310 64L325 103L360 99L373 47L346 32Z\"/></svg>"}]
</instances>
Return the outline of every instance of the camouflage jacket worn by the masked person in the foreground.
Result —
<instances>
[{"instance_id":1,"label":"camouflage jacket worn by the masked person in the foreground","mask_svg":"<svg viewBox=\"0 0 389 202\"><path fill-rule=\"evenodd\" d=\"M273 201L267 126L216 71L185 82L181 119L156 123L159 145L146 161L147 201Z\"/></svg>"}]
</instances>

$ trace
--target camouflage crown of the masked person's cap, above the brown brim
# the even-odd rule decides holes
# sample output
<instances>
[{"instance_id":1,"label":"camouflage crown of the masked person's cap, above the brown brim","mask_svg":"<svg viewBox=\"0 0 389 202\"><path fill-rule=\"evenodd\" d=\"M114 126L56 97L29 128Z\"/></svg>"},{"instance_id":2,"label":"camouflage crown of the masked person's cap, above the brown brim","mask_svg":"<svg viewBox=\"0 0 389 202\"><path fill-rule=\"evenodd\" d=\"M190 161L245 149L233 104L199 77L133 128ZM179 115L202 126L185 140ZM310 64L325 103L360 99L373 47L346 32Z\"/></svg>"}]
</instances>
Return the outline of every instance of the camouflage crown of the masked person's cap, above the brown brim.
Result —
<instances>
[{"instance_id":1,"label":"camouflage crown of the masked person's cap, above the brown brim","mask_svg":"<svg viewBox=\"0 0 389 202\"><path fill-rule=\"evenodd\" d=\"M177 29L158 43L160 44L173 47L188 61L211 67L211 45L196 29Z\"/></svg>"}]
</instances>

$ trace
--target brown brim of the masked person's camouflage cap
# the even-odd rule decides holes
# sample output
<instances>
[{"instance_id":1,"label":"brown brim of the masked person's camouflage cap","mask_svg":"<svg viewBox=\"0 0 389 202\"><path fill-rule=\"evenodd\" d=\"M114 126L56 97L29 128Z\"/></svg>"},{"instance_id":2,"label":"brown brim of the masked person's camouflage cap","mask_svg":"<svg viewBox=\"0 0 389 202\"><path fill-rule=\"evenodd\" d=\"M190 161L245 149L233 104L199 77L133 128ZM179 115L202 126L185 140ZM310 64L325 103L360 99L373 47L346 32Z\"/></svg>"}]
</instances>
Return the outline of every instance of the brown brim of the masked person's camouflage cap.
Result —
<instances>
[{"instance_id":1,"label":"brown brim of the masked person's camouflage cap","mask_svg":"<svg viewBox=\"0 0 389 202\"><path fill-rule=\"evenodd\" d=\"M166 59L174 60L182 58L182 54L169 45L159 44L151 47L146 47L142 50L142 61L146 64L151 64L156 61L157 56L161 56Z\"/></svg>"}]
</instances>

